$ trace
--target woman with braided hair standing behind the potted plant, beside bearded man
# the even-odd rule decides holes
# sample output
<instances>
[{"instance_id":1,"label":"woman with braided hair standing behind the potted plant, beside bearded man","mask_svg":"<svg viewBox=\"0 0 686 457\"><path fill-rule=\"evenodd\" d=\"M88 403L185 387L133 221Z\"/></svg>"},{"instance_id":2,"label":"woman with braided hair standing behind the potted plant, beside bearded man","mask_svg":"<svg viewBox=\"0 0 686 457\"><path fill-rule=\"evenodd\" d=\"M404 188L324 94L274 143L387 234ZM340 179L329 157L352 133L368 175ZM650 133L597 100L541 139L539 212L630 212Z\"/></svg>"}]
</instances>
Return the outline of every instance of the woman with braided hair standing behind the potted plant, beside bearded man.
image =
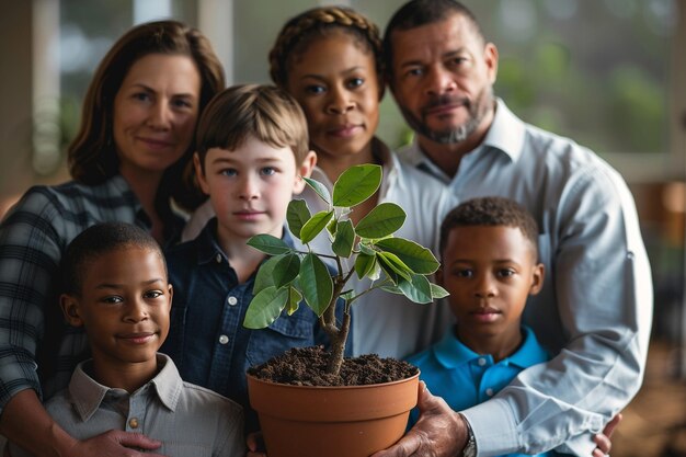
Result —
<instances>
[{"instance_id":1,"label":"woman with braided hair standing behind the potted plant, beside bearded man","mask_svg":"<svg viewBox=\"0 0 686 457\"><path fill-rule=\"evenodd\" d=\"M378 192L355 207L353 224L376 205L392 202L408 217L398 236L435 247L443 216L454 206L444 186L401 163L376 136L384 95L381 41L377 26L364 15L341 7L321 7L290 19L270 53L271 76L305 111L310 147L317 152L312 178L331 190L352 165L384 168ZM311 188L300 195L312 213L324 209ZM325 233L310 243L327 253ZM435 251L437 252L437 251ZM348 265L350 266L350 265ZM356 290L369 282L353 279ZM403 296L373 290L353 310L354 355L377 353L404 357L428 346L450 323L439 305L416 305Z\"/></svg>"}]
</instances>

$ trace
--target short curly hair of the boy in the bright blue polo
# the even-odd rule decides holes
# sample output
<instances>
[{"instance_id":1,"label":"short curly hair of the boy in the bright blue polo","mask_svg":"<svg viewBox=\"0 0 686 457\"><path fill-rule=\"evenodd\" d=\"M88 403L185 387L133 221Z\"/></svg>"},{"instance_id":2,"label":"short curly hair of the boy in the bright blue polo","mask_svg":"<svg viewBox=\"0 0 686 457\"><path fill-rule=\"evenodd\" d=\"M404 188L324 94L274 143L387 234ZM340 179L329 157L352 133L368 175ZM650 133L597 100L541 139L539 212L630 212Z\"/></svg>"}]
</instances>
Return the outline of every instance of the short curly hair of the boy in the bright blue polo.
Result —
<instances>
[{"instance_id":1,"label":"short curly hair of the boy in the bright blue polo","mask_svg":"<svg viewBox=\"0 0 686 457\"><path fill-rule=\"evenodd\" d=\"M446 215L441 224L441 254L443 255L453 229L473 226L518 228L531 242L534 253L538 256L538 225L534 217L515 201L494 196L468 199Z\"/></svg>"}]
</instances>

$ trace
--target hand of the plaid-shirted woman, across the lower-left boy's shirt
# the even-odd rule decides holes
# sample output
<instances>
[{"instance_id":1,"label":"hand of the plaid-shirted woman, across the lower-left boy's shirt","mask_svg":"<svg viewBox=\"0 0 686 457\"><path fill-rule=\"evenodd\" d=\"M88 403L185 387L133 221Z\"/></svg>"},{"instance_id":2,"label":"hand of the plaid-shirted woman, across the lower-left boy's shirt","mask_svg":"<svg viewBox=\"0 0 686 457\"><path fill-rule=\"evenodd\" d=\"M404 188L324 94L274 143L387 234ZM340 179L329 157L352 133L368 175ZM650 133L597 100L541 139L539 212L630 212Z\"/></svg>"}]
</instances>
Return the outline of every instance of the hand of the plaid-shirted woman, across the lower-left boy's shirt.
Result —
<instances>
[{"instance_id":1,"label":"hand of the plaid-shirted woman, across the lower-left boy's shirt","mask_svg":"<svg viewBox=\"0 0 686 457\"><path fill-rule=\"evenodd\" d=\"M77 442L65 457L164 457L159 454L139 453L155 450L162 445L140 433L111 430L92 438Z\"/></svg>"}]
</instances>

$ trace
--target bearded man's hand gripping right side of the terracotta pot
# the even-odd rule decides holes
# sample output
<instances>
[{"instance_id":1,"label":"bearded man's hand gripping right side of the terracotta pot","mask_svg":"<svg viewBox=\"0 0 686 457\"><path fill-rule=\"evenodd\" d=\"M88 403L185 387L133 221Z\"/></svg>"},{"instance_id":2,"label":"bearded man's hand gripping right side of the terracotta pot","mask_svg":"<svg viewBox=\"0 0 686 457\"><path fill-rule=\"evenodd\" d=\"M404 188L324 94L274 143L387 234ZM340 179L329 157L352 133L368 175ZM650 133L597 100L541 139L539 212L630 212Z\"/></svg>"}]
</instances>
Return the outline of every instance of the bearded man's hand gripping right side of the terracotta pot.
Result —
<instances>
[{"instance_id":1,"label":"bearded man's hand gripping right side of the terracotta pot","mask_svg":"<svg viewBox=\"0 0 686 457\"><path fill-rule=\"evenodd\" d=\"M420 419L393 446L371 457L455 457L467 443L467 425L441 398L420 381Z\"/></svg>"}]
</instances>

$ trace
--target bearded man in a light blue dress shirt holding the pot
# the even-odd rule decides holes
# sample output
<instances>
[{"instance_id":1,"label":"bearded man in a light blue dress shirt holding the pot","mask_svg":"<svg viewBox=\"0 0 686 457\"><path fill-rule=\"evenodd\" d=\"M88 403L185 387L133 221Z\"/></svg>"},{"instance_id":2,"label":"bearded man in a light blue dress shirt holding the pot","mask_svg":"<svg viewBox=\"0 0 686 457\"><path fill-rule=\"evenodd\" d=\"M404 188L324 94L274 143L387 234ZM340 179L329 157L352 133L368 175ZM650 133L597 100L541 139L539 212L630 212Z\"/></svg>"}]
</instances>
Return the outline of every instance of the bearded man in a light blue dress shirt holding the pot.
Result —
<instances>
[{"instance_id":1,"label":"bearded man in a light blue dress shirt holding the pot","mask_svg":"<svg viewBox=\"0 0 686 457\"><path fill-rule=\"evenodd\" d=\"M416 133L401 156L460 201L511 197L536 218L546 278L524 323L557 356L459 413L422 390L416 425L375 457L608 452L594 449L593 433L638 391L652 319L629 190L591 150L525 124L494 98L498 49L460 3L410 1L384 41L391 91Z\"/></svg>"}]
</instances>

